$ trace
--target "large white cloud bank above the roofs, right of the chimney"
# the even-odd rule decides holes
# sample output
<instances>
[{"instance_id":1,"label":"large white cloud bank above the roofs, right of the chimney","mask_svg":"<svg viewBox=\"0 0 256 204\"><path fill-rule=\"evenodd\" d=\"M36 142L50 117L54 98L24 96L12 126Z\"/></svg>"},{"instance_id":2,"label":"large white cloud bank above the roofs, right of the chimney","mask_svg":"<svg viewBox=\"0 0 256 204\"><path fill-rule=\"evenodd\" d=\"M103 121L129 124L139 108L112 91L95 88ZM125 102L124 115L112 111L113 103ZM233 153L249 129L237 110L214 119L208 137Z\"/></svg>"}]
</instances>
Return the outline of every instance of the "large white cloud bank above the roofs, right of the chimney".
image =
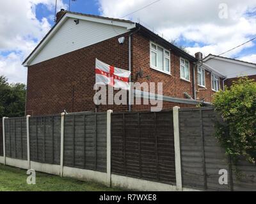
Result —
<instances>
[{"instance_id":1,"label":"large white cloud bank above the roofs, right of the chimney","mask_svg":"<svg viewBox=\"0 0 256 204\"><path fill-rule=\"evenodd\" d=\"M150 4L147 0L99 0L102 15L120 18ZM227 4L228 18L219 17L220 4ZM246 15L255 11L256 1L251 0L161 0L147 8L133 13L127 18L154 28L166 40L185 40L193 43L188 48L191 55L201 51L204 55L220 54L250 40L256 35L255 16ZM201 46L198 46L201 45ZM204 45L204 46L202 46ZM243 48L252 47L248 43L241 48L228 52L230 57L239 54Z\"/></svg>"}]
</instances>

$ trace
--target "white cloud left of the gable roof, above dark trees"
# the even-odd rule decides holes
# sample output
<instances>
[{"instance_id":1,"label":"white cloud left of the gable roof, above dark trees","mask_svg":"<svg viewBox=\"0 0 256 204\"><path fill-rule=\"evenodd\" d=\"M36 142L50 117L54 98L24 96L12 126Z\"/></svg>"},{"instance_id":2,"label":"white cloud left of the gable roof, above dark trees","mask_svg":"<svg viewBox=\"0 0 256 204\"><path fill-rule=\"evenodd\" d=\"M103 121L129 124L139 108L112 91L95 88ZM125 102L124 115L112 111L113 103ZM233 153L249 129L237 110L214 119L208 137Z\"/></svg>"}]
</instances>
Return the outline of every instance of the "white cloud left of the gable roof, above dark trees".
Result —
<instances>
[{"instance_id":1,"label":"white cloud left of the gable roof, above dark trees","mask_svg":"<svg viewBox=\"0 0 256 204\"><path fill-rule=\"evenodd\" d=\"M21 63L51 29L47 18L36 18L40 3L54 12L52 0L0 1L0 75L10 82L26 82L26 68ZM62 0L58 1L60 8L67 8Z\"/></svg>"}]
</instances>

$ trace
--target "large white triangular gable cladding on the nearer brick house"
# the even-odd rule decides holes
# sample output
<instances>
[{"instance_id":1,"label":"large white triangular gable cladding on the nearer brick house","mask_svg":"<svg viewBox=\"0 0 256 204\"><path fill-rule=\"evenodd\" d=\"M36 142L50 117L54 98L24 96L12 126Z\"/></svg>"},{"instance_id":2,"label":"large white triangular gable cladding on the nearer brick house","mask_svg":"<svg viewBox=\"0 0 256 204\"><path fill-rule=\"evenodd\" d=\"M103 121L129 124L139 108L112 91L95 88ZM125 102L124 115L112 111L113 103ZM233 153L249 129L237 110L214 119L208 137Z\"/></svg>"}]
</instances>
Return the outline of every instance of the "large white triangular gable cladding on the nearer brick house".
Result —
<instances>
[{"instance_id":1,"label":"large white triangular gable cladding on the nearer brick house","mask_svg":"<svg viewBox=\"0 0 256 204\"><path fill-rule=\"evenodd\" d=\"M88 20L79 20L79 24L76 25L74 20L76 18L68 18L29 65L37 64L129 32L125 27L101 24Z\"/></svg>"}]
</instances>

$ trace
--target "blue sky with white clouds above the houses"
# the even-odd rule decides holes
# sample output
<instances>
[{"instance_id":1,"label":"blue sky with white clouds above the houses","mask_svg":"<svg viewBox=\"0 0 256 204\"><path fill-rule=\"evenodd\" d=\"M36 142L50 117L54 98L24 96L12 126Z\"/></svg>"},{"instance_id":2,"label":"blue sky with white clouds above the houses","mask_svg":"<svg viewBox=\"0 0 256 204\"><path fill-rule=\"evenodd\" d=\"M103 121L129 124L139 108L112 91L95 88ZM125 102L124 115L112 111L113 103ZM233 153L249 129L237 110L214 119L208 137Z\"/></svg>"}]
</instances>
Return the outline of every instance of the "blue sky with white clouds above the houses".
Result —
<instances>
[{"instance_id":1,"label":"blue sky with white clouds above the houses","mask_svg":"<svg viewBox=\"0 0 256 204\"><path fill-rule=\"evenodd\" d=\"M68 10L68 0L57 2L57 11ZM255 0L70 2L71 11L140 22L166 40L186 47L191 55L218 55L256 36ZM22 61L54 25L54 12L55 0L0 1L0 75L10 83L26 84L27 68ZM256 63L256 40L223 56Z\"/></svg>"}]
</instances>

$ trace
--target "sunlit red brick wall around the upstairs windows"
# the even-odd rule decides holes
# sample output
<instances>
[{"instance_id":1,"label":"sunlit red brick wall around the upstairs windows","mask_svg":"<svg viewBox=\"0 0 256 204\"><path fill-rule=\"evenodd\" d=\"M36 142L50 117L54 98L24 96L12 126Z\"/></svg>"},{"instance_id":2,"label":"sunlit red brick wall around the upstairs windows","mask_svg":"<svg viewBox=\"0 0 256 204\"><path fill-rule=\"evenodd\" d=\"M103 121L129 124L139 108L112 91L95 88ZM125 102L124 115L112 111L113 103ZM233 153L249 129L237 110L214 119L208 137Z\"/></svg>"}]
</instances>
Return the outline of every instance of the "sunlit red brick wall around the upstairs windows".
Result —
<instances>
[{"instance_id":1,"label":"sunlit red brick wall around the upstairs windows","mask_svg":"<svg viewBox=\"0 0 256 204\"><path fill-rule=\"evenodd\" d=\"M135 80L136 73L143 69L143 75L150 77L150 82L163 82L163 95L176 98L185 98L184 92L193 96L192 68L190 63L190 81L180 79L180 57L171 51L171 75L150 68L150 40L139 33L132 37L133 69L132 78ZM146 78L139 78L138 82L148 82Z\"/></svg>"}]
</instances>

